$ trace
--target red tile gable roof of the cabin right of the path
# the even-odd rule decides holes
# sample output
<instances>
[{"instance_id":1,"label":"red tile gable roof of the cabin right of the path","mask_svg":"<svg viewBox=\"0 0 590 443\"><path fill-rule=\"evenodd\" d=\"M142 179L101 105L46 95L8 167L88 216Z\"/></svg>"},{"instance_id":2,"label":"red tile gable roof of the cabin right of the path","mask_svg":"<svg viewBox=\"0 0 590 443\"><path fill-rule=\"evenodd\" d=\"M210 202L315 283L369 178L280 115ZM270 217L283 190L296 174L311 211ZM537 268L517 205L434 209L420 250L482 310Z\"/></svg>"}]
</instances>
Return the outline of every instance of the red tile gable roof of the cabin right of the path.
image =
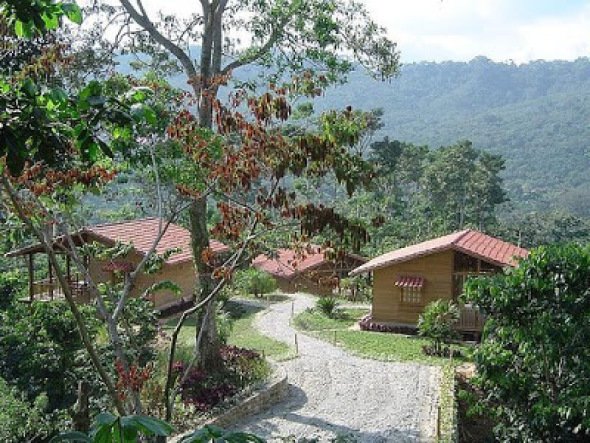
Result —
<instances>
[{"instance_id":1,"label":"red tile gable roof of the cabin right of the path","mask_svg":"<svg viewBox=\"0 0 590 443\"><path fill-rule=\"evenodd\" d=\"M524 248L479 231L466 229L380 255L354 269L350 274L356 275L384 268L394 263L408 261L447 249L461 251L498 266L516 266L519 258L528 255L528 251Z\"/></svg>"}]
</instances>

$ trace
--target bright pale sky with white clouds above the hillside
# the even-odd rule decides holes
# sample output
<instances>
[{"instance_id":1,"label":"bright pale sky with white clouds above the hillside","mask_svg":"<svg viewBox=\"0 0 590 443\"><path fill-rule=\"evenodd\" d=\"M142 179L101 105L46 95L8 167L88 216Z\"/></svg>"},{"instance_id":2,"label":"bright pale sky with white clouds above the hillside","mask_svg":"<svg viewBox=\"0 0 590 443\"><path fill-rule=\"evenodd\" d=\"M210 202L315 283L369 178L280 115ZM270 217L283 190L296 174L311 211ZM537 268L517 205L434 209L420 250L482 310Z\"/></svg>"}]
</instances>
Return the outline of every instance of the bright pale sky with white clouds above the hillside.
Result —
<instances>
[{"instance_id":1,"label":"bright pale sky with white clouds above the hillside","mask_svg":"<svg viewBox=\"0 0 590 443\"><path fill-rule=\"evenodd\" d=\"M143 0L186 14L196 0ZM590 56L590 0L359 0L399 45L402 62L574 60Z\"/></svg>"}]
</instances>

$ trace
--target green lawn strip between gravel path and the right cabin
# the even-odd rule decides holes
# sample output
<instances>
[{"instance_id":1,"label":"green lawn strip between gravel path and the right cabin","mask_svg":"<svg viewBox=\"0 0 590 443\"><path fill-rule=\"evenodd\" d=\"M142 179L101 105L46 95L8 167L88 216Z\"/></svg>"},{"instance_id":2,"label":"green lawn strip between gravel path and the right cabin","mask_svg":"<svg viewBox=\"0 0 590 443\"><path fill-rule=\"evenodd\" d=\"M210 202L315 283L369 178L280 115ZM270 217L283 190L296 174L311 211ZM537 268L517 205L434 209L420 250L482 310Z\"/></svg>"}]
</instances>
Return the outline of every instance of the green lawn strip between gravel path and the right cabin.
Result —
<instances>
[{"instance_id":1,"label":"green lawn strip between gravel path and the right cabin","mask_svg":"<svg viewBox=\"0 0 590 443\"><path fill-rule=\"evenodd\" d=\"M383 361L418 362L431 365L443 365L449 362L447 358L430 357L424 355L422 346L428 340L417 336L406 336L385 332L370 332L351 330L366 310L344 309L342 318L331 319L316 310L304 311L298 314L293 325L315 337L336 343L352 354ZM464 354L469 354L467 346L453 346L460 348ZM466 361L465 357L455 359L457 363Z\"/></svg>"}]
</instances>

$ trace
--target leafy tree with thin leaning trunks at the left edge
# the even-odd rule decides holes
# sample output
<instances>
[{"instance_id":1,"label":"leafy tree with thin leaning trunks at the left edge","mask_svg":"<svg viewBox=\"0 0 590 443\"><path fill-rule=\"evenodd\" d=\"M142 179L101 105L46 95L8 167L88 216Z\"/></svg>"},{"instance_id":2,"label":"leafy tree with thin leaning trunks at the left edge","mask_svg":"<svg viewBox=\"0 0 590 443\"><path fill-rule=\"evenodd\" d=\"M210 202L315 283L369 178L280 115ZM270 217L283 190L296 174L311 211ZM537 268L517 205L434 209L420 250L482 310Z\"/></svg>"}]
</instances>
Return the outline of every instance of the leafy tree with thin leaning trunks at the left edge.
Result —
<instances>
[{"instance_id":1,"label":"leafy tree with thin leaning trunks at the left edge","mask_svg":"<svg viewBox=\"0 0 590 443\"><path fill-rule=\"evenodd\" d=\"M58 28L63 16L80 21L79 8L70 3L39 1L27 6L22 2L4 1L0 6L0 18L12 26L12 32L17 37L44 36ZM92 187L99 188L112 179L110 159L113 152L108 143L109 135L124 134L118 137L119 143L124 144L125 140L132 138L136 125L149 119L150 113L142 105L138 94L109 97L98 81L91 81L76 92L67 91L56 81L56 68L64 66L66 60L59 45L53 49L25 57L16 71L9 69L8 72L1 72L2 210L8 212L7 218L17 218L44 247L90 361L118 412L125 414L129 405L123 404L109 373L111 368L105 367L100 358L92 340L92 330L73 296L70 282L65 278L58 253L69 255L80 274L89 279L89 290L97 301L100 317L106 323L113 352L123 370L129 371L132 365L124 348L133 331L122 334L124 328L120 327L120 322L128 320L128 312L123 311L134 280L148 262L157 265L158 257L154 252L167 225L162 226L161 235L155 239L153 248L139 264L137 272L129 275L119 292L115 291L120 297L107 301L107 294L92 281L75 247L67 208L77 193ZM63 236L63 241L57 242L57 245L54 233ZM91 247L85 251L87 254L92 252L99 251ZM122 253L120 245L100 252ZM110 306L114 309L111 310ZM131 403L132 410L141 408L137 395Z\"/></svg>"}]
</instances>

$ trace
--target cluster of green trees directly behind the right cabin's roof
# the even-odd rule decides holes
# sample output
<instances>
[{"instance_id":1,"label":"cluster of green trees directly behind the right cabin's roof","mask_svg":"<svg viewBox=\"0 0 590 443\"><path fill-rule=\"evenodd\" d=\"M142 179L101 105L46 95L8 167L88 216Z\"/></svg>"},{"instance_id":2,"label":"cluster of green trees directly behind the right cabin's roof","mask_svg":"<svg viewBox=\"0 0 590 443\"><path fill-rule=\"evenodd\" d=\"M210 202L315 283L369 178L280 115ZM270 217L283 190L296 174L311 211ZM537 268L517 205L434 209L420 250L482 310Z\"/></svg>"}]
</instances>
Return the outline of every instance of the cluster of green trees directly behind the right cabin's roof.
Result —
<instances>
[{"instance_id":1,"label":"cluster of green trees directly behind the right cabin's roof","mask_svg":"<svg viewBox=\"0 0 590 443\"><path fill-rule=\"evenodd\" d=\"M330 202L367 227L365 255L467 227L496 228L499 205L506 199L501 157L469 141L431 149L386 137L371 145L369 159L379 173L368 189L352 196L338 190L329 174L297 183L308 198Z\"/></svg>"}]
</instances>

